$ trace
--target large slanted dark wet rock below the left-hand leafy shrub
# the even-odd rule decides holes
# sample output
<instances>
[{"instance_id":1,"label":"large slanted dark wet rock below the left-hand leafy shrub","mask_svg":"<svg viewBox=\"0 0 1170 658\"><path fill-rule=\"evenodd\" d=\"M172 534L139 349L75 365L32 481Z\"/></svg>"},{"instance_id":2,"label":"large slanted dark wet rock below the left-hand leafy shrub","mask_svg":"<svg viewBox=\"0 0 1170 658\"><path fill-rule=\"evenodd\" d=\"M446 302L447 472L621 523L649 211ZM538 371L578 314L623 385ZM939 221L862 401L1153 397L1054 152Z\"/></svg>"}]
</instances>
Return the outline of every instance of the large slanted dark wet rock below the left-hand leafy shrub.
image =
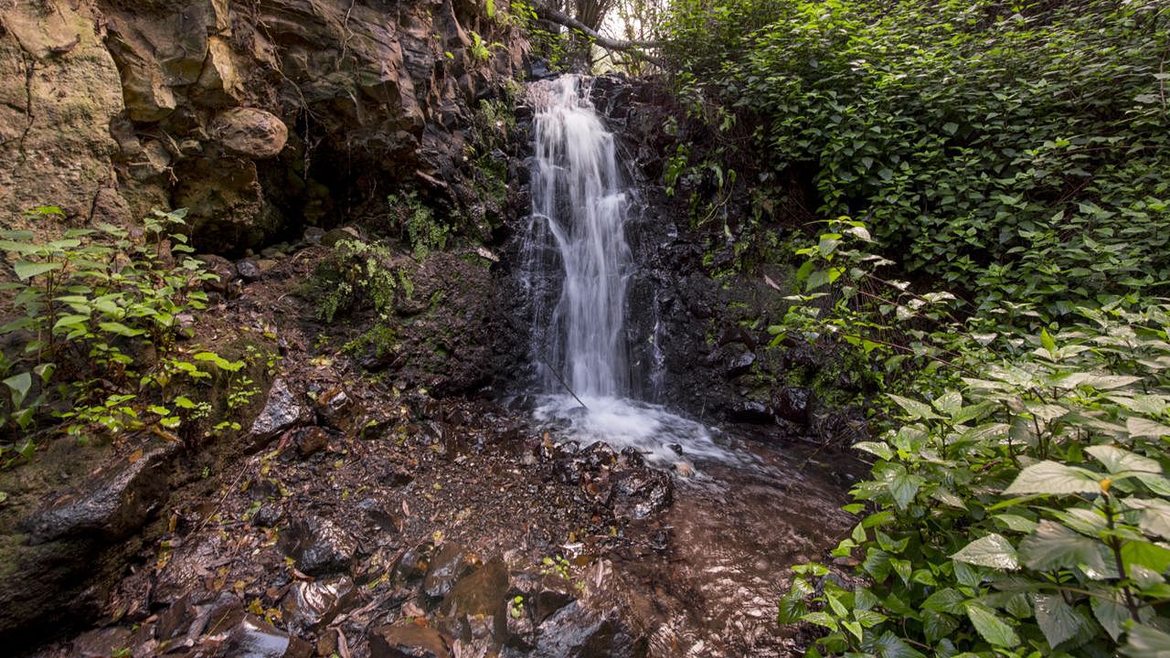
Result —
<instances>
[{"instance_id":1,"label":"large slanted dark wet rock below the left-hand leafy shrub","mask_svg":"<svg viewBox=\"0 0 1170 658\"><path fill-rule=\"evenodd\" d=\"M119 540L142 527L165 498L178 444L151 448L49 501L21 522L30 544L83 535Z\"/></svg>"}]
</instances>

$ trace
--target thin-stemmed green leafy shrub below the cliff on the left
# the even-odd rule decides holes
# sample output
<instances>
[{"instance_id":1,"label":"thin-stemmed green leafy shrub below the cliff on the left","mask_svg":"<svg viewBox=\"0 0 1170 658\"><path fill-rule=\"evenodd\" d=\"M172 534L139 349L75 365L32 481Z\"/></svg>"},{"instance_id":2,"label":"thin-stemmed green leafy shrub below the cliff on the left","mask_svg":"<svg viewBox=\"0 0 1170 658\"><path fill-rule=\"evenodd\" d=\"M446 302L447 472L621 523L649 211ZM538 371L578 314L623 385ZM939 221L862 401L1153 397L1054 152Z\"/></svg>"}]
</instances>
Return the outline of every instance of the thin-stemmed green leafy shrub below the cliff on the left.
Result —
<instances>
[{"instance_id":1,"label":"thin-stemmed green leafy shrub below the cliff on the left","mask_svg":"<svg viewBox=\"0 0 1170 658\"><path fill-rule=\"evenodd\" d=\"M32 213L61 215L56 207ZM0 376L11 393L0 425L15 432L0 443L4 465L30 458L36 426L62 419L81 439L94 430L172 437L197 405L176 386L243 368L179 345L190 334L185 325L206 306L202 282L214 276L191 256L187 238L172 232L184 215L156 211L140 237L112 225L67 231L48 242L28 231L0 233L16 279L4 288L18 314L0 327L8 340Z\"/></svg>"}]
</instances>

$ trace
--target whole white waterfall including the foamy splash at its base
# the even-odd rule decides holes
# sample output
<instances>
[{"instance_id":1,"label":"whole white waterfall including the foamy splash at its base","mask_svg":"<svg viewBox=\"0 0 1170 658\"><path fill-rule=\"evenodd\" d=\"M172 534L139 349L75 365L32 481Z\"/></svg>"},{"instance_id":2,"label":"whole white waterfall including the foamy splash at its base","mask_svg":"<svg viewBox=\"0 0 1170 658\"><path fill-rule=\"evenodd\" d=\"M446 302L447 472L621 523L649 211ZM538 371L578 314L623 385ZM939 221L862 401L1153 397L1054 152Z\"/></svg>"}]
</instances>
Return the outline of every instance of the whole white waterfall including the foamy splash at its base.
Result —
<instances>
[{"instance_id":1,"label":"whole white waterfall including the foamy splash at its base","mask_svg":"<svg viewBox=\"0 0 1170 658\"><path fill-rule=\"evenodd\" d=\"M631 203L614 136L593 110L580 76L534 83L530 95L536 102L532 214L521 283L545 393L537 418L566 424L570 438L632 446L658 461L679 459L670 444L689 458L729 459L703 425L628 398L626 314L654 309L626 308ZM662 340L658 328L651 340ZM654 349L660 358L656 343Z\"/></svg>"}]
</instances>

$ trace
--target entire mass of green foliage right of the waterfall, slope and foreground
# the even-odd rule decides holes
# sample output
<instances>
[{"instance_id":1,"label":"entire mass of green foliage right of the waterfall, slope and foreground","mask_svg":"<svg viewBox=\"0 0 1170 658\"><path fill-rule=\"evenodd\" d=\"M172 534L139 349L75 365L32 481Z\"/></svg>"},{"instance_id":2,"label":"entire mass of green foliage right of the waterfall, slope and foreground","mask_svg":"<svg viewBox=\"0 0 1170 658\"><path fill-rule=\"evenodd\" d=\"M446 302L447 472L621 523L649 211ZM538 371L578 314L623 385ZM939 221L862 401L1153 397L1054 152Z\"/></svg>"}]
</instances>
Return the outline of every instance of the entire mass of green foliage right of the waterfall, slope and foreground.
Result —
<instances>
[{"instance_id":1,"label":"entire mass of green foliage right of the waterfall, slope and foreground","mask_svg":"<svg viewBox=\"0 0 1170 658\"><path fill-rule=\"evenodd\" d=\"M668 185L865 220L800 246L770 328L887 392L780 622L813 654L1170 651L1170 7L680 0L667 32L718 143Z\"/></svg>"}]
</instances>

